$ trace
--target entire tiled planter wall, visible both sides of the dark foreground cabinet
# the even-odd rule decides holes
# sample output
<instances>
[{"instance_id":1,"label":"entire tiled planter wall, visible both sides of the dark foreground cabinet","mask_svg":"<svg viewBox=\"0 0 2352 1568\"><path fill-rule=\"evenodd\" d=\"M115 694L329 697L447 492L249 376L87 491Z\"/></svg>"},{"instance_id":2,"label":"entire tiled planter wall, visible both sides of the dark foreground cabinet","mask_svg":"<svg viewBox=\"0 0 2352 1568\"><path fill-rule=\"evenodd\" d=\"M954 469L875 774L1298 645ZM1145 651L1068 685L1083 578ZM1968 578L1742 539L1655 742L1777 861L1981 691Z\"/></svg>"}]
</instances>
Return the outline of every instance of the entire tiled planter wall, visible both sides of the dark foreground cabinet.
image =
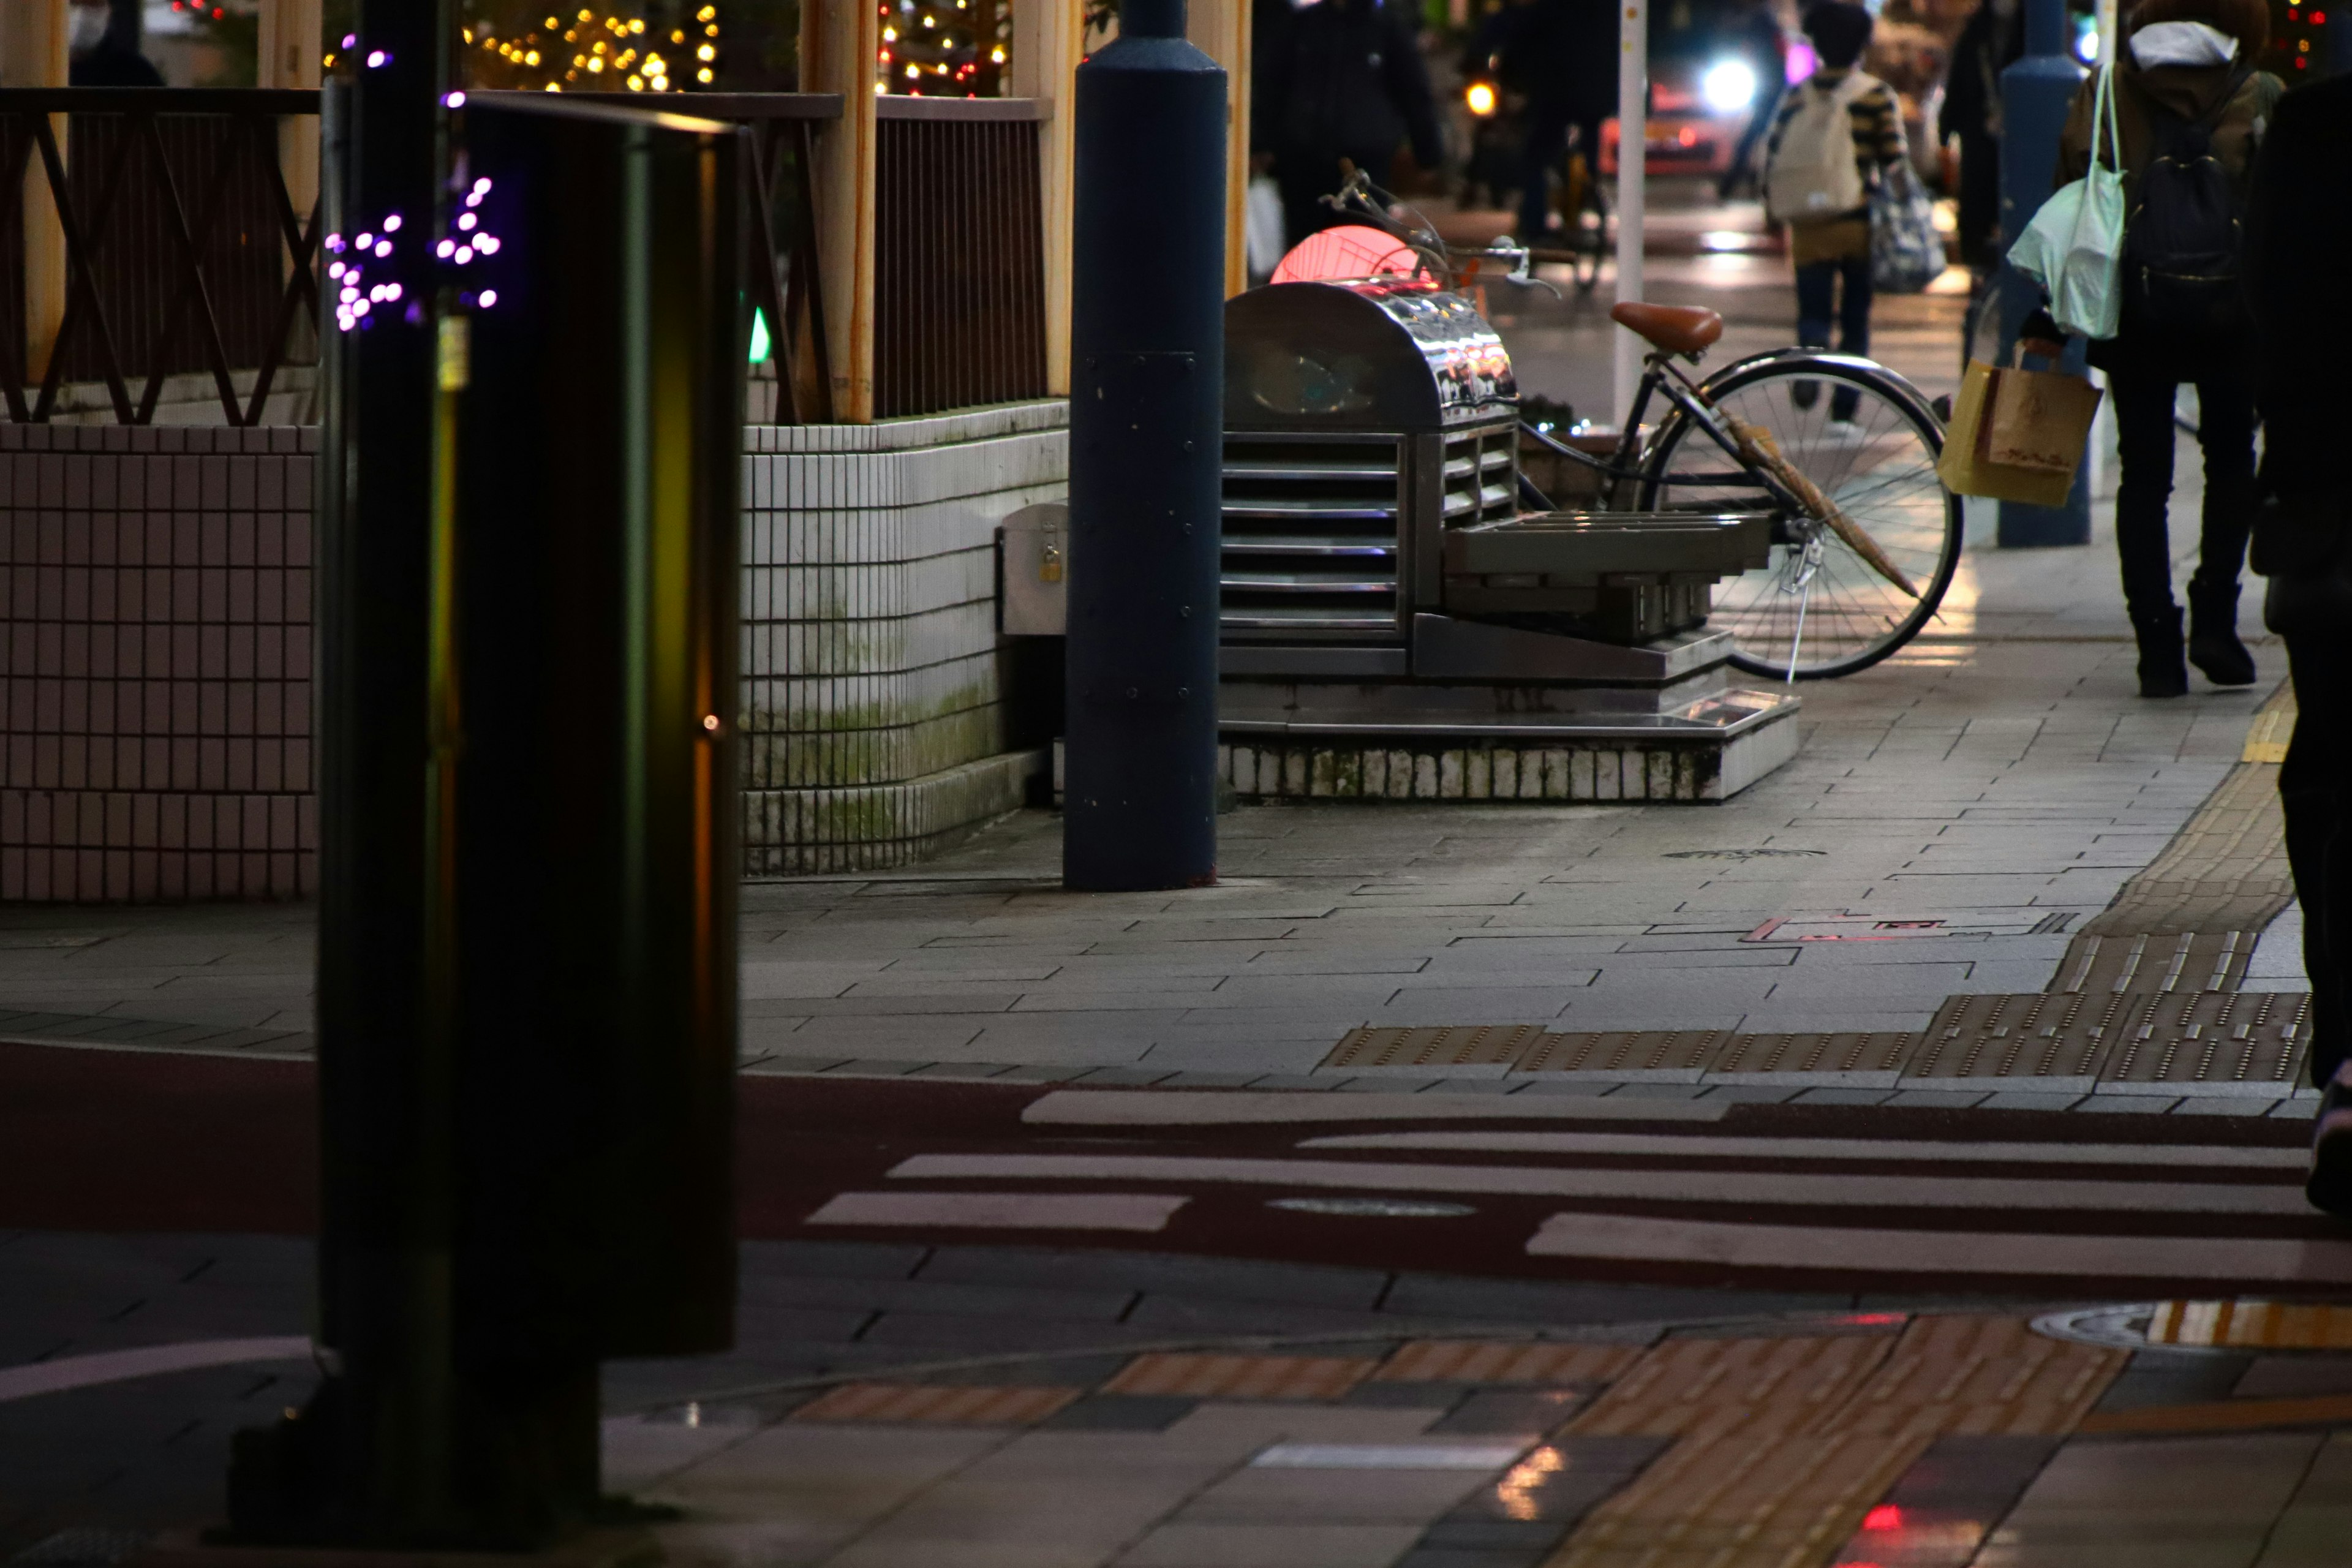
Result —
<instances>
[{"instance_id":1,"label":"entire tiled planter wall, visible both sides of the dark foreground cabinet","mask_svg":"<svg viewBox=\"0 0 2352 1568\"><path fill-rule=\"evenodd\" d=\"M901 865L1021 804L993 538L1063 496L1065 425L746 430L748 875ZM0 900L313 891L315 447L0 423Z\"/></svg>"}]
</instances>

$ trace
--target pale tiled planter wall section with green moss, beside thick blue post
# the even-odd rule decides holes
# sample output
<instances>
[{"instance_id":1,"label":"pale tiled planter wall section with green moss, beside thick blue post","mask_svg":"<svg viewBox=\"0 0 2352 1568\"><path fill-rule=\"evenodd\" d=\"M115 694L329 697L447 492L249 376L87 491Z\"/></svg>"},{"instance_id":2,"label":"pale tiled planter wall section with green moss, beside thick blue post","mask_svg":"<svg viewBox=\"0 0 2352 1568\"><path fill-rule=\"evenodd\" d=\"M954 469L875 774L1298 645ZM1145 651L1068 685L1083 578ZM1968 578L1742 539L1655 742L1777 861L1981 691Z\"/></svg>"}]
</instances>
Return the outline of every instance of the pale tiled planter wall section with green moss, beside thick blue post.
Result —
<instances>
[{"instance_id":1,"label":"pale tiled planter wall section with green moss, beside thick blue post","mask_svg":"<svg viewBox=\"0 0 2352 1568\"><path fill-rule=\"evenodd\" d=\"M995 527L1063 498L1068 404L743 435L746 872L903 865L1018 806Z\"/></svg>"}]
</instances>

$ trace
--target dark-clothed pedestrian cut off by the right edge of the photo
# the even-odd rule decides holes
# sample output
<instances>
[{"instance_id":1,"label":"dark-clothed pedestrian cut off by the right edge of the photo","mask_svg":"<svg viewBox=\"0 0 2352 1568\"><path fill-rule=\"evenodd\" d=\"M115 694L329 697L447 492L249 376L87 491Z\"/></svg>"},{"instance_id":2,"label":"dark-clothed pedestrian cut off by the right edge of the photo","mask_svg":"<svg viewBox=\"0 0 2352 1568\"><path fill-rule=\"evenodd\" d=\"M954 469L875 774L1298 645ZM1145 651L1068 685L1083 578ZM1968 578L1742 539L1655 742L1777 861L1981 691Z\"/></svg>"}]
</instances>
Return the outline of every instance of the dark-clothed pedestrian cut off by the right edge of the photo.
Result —
<instances>
[{"instance_id":1,"label":"dark-clothed pedestrian cut off by the right edge of the photo","mask_svg":"<svg viewBox=\"0 0 2352 1568\"><path fill-rule=\"evenodd\" d=\"M2263 618L2286 639L2296 733L2279 769L2286 860L2303 900L2310 1063L2321 1091L2310 1199L2352 1218L2352 503L2336 458L2352 430L2352 78L2286 94L2246 207L2246 303L2258 331Z\"/></svg>"}]
</instances>

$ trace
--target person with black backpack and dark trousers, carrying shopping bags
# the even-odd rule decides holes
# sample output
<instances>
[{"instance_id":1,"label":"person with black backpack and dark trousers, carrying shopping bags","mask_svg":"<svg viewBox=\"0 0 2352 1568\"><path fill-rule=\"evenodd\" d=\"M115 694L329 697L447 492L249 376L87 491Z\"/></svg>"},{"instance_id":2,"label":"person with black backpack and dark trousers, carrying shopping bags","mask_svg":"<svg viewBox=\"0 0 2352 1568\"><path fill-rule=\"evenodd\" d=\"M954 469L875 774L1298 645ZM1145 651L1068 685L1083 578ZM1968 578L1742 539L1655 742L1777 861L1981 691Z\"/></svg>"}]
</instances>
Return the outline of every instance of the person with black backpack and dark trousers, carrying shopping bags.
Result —
<instances>
[{"instance_id":1,"label":"person with black backpack and dark trousers, carrying shopping bags","mask_svg":"<svg viewBox=\"0 0 2352 1568\"><path fill-rule=\"evenodd\" d=\"M2100 160L2124 174L2124 299L2117 334L2089 353L2114 400L2114 548L2147 698L2185 696L2190 663L2216 686L2256 675L2237 637L2256 505L2253 324L2239 252L2253 153L2281 94L2279 78L2253 68L2267 40L2265 0L2140 0L2112 66L2117 146L2098 136ZM2058 183L2091 167L2096 87L2091 78L2074 94ZM2049 313L2027 317L2020 336L2027 353L2056 353L2063 339ZM2185 639L2169 538L2183 381L2197 386L2206 480Z\"/></svg>"}]
</instances>

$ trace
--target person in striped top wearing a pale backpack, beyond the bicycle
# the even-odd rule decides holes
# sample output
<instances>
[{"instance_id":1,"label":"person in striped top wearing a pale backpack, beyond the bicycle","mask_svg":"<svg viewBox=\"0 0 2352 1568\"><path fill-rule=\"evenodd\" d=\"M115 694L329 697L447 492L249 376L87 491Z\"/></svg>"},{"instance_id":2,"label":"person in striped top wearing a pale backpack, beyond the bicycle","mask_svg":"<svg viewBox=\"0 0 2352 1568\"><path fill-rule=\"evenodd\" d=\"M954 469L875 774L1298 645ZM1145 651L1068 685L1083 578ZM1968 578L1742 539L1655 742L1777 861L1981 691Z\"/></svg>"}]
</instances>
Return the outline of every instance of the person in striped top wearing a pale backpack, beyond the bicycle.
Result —
<instances>
[{"instance_id":1,"label":"person in striped top wearing a pale backpack, beyond the bicycle","mask_svg":"<svg viewBox=\"0 0 2352 1568\"><path fill-rule=\"evenodd\" d=\"M1797 266L1797 343L1828 348L1837 324L1837 348L1870 353L1870 188L1891 165L1910 158L1896 94L1886 82L1856 71L1870 47L1870 12L1849 0L1818 0L1804 14L1820 71L1788 89L1764 150L1764 214L1788 223L1790 261ZM1818 383L1792 388L1809 409ZM1860 393L1830 395L1830 418L1853 421Z\"/></svg>"}]
</instances>

